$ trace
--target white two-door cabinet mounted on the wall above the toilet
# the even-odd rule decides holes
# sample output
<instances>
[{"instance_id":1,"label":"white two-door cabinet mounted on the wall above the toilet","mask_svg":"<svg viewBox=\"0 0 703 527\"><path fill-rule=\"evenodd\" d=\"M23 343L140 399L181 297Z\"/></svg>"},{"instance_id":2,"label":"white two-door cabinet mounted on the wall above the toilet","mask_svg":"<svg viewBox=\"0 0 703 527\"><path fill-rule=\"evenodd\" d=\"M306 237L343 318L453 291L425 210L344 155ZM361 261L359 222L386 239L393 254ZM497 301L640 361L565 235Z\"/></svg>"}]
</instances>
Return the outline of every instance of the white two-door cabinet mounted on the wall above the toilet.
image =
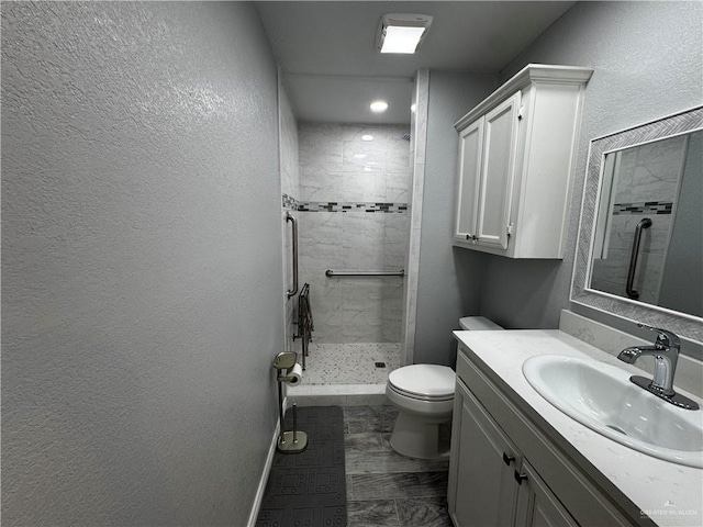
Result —
<instances>
[{"instance_id":1,"label":"white two-door cabinet mounted on the wall above the toilet","mask_svg":"<svg viewBox=\"0 0 703 527\"><path fill-rule=\"evenodd\" d=\"M561 258L592 69L529 65L461 117L454 245Z\"/></svg>"}]
</instances>

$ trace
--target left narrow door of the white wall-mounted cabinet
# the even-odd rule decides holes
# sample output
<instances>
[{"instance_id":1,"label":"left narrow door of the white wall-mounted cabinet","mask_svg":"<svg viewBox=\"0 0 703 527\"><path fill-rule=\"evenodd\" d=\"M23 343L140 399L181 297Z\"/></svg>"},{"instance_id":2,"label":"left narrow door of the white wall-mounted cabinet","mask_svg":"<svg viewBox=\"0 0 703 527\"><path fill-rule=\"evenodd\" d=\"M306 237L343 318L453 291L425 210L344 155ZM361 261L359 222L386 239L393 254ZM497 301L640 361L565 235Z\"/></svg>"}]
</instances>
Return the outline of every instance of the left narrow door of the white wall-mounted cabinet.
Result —
<instances>
[{"instance_id":1,"label":"left narrow door of the white wall-mounted cabinet","mask_svg":"<svg viewBox=\"0 0 703 527\"><path fill-rule=\"evenodd\" d=\"M483 148L483 119L467 126L459 133L458 206L455 222L455 238L473 239L476 236L476 213L479 198L481 154Z\"/></svg>"}]
</instances>

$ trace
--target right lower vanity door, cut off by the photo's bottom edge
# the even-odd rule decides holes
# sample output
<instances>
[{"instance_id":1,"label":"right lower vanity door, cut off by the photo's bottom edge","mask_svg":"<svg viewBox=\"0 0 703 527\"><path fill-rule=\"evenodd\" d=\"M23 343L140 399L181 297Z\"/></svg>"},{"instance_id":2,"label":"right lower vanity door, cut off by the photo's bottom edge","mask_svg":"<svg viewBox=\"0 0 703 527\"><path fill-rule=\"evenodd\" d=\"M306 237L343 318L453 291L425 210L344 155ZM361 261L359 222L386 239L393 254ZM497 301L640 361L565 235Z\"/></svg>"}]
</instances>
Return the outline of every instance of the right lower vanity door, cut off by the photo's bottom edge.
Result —
<instances>
[{"instance_id":1,"label":"right lower vanity door, cut off by the photo's bottom edge","mask_svg":"<svg viewBox=\"0 0 703 527\"><path fill-rule=\"evenodd\" d=\"M515 525L525 527L578 527L532 466L523 460L516 471L520 481Z\"/></svg>"}]
</instances>

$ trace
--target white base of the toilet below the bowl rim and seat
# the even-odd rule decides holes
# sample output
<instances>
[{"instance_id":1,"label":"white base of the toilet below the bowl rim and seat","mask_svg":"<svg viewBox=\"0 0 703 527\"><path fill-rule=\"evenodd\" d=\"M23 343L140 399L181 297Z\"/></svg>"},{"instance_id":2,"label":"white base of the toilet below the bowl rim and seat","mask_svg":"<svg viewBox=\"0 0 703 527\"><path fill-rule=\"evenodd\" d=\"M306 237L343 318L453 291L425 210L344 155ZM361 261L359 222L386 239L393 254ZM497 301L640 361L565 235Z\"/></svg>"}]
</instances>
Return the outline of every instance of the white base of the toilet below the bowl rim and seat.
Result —
<instances>
[{"instance_id":1,"label":"white base of the toilet below the bowl rim and seat","mask_svg":"<svg viewBox=\"0 0 703 527\"><path fill-rule=\"evenodd\" d=\"M439 425L449 421L450 416L436 419L422 418L401 411L391 436L391 448L409 458L447 458L449 450L440 451Z\"/></svg>"}]
</instances>

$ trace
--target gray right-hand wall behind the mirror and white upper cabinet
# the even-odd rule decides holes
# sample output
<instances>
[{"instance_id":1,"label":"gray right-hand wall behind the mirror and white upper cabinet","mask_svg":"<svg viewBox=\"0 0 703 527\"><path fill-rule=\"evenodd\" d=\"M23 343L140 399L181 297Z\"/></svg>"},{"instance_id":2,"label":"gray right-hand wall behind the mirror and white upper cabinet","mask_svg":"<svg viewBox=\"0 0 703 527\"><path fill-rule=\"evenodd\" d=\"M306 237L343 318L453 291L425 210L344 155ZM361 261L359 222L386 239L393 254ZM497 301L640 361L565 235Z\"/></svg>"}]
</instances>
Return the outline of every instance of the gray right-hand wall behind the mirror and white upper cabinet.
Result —
<instances>
[{"instance_id":1,"label":"gray right-hand wall behind the mirror and white upper cabinet","mask_svg":"<svg viewBox=\"0 0 703 527\"><path fill-rule=\"evenodd\" d=\"M560 310L572 305L569 291L589 141L701 103L702 9L700 2L578 2L501 74L505 81L529 63L595 69L585 93L565 259L489 256L483 315L512 328L558 326ZM614 317L595 316L633 329Z\"/></svg>"}]
</instances>

